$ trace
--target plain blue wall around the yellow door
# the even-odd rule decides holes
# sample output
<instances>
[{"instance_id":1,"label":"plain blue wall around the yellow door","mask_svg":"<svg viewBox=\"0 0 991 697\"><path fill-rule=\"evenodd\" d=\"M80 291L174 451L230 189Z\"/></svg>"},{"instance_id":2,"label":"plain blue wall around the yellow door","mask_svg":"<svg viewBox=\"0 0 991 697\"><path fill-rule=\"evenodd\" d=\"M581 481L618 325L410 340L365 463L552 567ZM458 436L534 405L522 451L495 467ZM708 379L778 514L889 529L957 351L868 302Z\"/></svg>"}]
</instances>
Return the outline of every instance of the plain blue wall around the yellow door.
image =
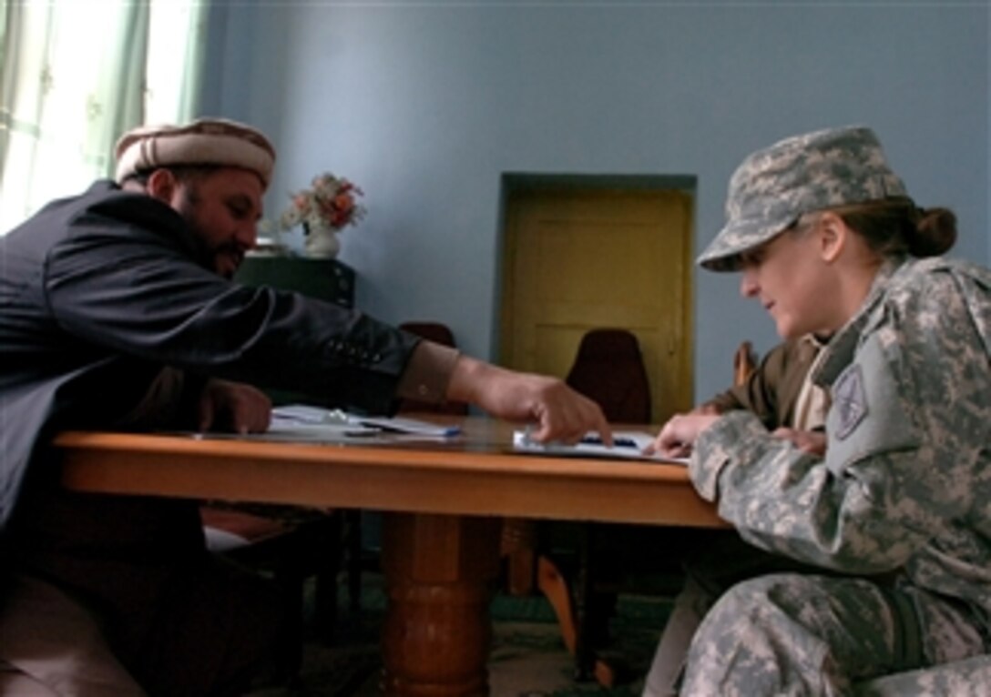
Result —
<instances>
[{"instance_id":1,"label":"plain blue wall around the yellow door","mask_svg":"<svg viewBox=\"0 0 991 697\"><path fill-rule=\"evenodd\" d=\"M221 3L204 113L273 137L272 213L318 171L361 184L342 239L360 306L492 357L507 171L695 175L701 250L748 152L867 124L920 205L956 211L954 253L987 263L989 27L977 4ZM740 340L777 341L737 285L696 275L699 398Z\"/></svg>"}]
</instances>

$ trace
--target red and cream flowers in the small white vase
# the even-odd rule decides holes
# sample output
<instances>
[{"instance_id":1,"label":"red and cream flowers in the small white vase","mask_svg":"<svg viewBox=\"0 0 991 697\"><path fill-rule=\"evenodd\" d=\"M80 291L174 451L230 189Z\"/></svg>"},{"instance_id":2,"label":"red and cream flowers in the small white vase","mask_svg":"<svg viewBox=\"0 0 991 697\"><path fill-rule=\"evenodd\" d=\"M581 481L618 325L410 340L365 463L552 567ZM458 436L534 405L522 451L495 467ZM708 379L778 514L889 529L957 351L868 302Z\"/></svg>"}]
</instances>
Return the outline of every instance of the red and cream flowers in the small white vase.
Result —
<instances>
[{"instance_id":1,"label":"red and cream flowers in the small white vase","mask_svg":"<svg viewBox=\"0 0 991 697\"><path fill-rule=\"evenodd\" d=\"M313 177L310 188L291 194L291 203L278 218L278 226L289 230L299 224L303 233L331 228L338 231L355 225L365 217L366 209L357 198L364 192L343 177L324 172Z\"/></svg>"}]
</instances>

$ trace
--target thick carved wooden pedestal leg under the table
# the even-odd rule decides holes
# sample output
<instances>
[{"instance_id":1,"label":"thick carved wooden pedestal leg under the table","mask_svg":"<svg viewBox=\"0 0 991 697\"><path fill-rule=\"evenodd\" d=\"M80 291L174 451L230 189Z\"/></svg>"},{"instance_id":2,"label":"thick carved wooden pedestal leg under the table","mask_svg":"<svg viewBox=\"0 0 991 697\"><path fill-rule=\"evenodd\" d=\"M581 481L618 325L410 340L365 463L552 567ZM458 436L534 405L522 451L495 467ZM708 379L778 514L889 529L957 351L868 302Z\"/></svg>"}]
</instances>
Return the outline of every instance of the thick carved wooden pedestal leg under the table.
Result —
<instances>
[{"instance_id":1,"label":"thick carved wooden pedestal leg under the table","mask_svg":"<svg viewBox=\"0 0 991 697\"><path fill-rule=\"evenodd\" d=\"M489 694L500 521L385 514L385 695Z\"/></svg>"}]
</instances>

